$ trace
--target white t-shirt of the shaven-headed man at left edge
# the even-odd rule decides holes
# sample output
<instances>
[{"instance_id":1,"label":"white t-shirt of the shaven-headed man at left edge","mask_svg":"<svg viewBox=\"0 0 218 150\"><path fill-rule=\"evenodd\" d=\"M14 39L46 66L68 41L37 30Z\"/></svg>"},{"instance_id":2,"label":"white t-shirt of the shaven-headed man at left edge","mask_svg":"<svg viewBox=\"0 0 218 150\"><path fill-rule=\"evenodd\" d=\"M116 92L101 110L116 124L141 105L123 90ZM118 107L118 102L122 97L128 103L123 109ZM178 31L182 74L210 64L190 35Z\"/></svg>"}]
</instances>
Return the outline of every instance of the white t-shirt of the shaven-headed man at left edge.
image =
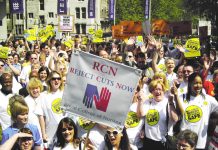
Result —
<instances>
[{"instance_id":1,"label":"white t-shirt of the shaven-headed man at left edge","mask_svg":"<svg viewBox=\"0 0 218 150\"><path fill-rule=\"evenodd\" d=\"M5 130L12 124L10 107L9 107L9 98L13 94L5 95L0 91L0 124L2 125L2 130Z\"/></svg>"}]
</instances>

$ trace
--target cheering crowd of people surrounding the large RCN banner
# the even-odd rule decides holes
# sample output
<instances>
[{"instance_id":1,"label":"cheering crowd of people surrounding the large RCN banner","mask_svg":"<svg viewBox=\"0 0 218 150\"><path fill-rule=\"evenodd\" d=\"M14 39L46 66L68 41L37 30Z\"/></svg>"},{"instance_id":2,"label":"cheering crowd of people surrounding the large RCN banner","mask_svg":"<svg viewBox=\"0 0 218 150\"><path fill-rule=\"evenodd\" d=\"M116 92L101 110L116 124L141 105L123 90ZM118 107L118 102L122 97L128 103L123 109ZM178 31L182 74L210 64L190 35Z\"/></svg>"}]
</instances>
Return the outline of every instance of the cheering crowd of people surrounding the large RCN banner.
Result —
<instances>
[{"instance_id":1,"label":"cheering crowd of people surrounding the large RCN banner","mask_svg":"<svg viewBox=\"0 0 218 150\"><path fill-rule=\"evenodd\" d=\"M204 150L218 126L218 58L201 45L186 58L184 45L152 35L127 42L82 45L76 36L45 43L12 40L0 58L0 150ZM85 51L142 70L128 117L118 130L68 114L61 107L66 75L75 51ZM213 116L213 117L211 117ZM218 140L218 139L217 139Z\"/></svg>"}]
</instances>

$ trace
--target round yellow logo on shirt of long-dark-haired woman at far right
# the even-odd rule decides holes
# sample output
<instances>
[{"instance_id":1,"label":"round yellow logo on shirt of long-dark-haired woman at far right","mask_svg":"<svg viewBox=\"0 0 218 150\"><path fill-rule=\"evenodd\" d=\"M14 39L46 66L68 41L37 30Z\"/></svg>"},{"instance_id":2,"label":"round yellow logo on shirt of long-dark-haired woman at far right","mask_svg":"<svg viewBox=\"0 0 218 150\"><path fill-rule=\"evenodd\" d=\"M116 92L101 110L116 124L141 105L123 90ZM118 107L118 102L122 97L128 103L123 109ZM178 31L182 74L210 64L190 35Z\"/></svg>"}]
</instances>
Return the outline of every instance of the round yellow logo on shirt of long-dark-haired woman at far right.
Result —
<instances>
[{"instance_id":1,"label":"round yellow logo on shirt of long-dark-haired woman at far right","mask_svg":"<svg viewBox=\"0 0 218 150\"><path fill-rule=\"evenodd\" d=\"M189 106L185 109L185 119L188 122L195 123L202 118L202 110L196 105Z\"/></svg>"}]
</instances>

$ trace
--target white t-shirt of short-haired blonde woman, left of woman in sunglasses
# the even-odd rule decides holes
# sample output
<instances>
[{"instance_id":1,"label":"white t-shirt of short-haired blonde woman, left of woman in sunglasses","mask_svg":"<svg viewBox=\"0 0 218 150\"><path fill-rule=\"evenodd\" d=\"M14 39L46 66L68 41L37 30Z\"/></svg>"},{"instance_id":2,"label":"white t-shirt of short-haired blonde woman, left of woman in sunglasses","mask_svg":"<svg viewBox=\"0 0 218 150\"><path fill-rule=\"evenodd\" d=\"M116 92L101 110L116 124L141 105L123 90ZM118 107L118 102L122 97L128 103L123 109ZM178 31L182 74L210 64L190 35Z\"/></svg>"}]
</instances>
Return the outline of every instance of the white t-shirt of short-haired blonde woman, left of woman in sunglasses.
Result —
<instances>
[{"instance_id":1,"label":"white t-shirt of short-haired blonde woman, left of woman in sunglasses","mask_svg":"<svg viewBox=\"0 0 218 150\"><path fill-rule=\"evenodd\" d=\"M39 96L36 99L33 99L32 96L28 95L24 99L29 107L28 123L34 124L38 127L40 136L42 136L42 132L41 132L40 124L39 124L39 118L34 112L35 112L37 103L39 103L40 99L42 99L42 98L43 98L42 96Z\"/></svg>"}]
</instances>

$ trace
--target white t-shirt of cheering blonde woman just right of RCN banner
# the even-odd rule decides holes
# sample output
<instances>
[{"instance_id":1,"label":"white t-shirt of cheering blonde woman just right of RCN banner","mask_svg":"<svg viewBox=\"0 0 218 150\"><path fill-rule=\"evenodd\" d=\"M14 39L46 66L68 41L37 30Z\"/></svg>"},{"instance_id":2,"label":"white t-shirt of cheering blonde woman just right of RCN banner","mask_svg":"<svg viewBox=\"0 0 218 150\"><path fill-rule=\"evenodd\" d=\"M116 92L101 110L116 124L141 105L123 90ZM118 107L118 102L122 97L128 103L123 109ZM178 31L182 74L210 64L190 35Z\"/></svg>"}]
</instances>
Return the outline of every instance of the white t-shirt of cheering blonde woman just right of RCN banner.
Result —
<instances>
[{"instance_id":1,"label":"white t-shirt of cheering blonde woman just right of RCN banner","mask_svg":"<svg viewBox=\"0 0 218 150\"><path fill-rule=\"evenodd\" d=\"M166 109L168 99L164 98L160 102L154 99L146 100L143 104L145 112L145 135L155 141L165 141L167 133Z\"/></svg>"}]
</instances>

